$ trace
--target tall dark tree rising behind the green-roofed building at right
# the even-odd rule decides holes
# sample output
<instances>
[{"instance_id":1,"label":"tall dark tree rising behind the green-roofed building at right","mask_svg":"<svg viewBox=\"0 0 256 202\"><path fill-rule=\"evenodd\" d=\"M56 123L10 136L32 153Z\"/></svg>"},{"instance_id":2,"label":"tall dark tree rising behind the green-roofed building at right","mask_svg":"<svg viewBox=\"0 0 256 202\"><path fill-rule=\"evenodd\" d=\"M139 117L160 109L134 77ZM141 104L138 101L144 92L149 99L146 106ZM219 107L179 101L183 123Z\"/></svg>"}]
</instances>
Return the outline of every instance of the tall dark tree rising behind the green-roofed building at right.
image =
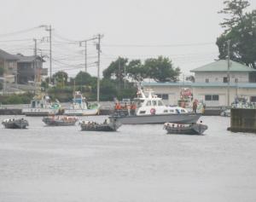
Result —
<instances>
[{"instance_id":1,"label":"tall dark tree rising behind the green-roofed building at right","mask_svg":"<svg viewBox=\"0 0 256 202\"><path fill-rule=\"evenodd\" d=\"M244 14L247 1L225 1L227 7L222 14L230 14L230 19L224 19L222 26L227 27L217 38L219 59L227 57L227 41L230 40L230 59L256 68L256 10Z\"/></svg>"}]
</instances>

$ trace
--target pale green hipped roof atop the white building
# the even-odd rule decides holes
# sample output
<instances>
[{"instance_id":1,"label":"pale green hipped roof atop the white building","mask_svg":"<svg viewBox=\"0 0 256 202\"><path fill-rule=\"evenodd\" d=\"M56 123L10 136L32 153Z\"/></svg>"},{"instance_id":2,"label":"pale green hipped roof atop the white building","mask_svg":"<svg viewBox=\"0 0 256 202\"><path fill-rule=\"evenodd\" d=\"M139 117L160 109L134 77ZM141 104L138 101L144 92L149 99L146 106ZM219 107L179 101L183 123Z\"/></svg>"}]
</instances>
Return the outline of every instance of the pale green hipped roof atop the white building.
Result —
<instances>
[{"instance_id":1,"label":"pale green hipped roof atop the white building","mask_svg":"<svg viewBox=\"0 0 256 202\"><path fill-rule=\"evenodd\" d=\"M190 72L227 72L228 71L228 61L219 60L214 61L205 66L201 66L191 70ZM256 72L255 69L242 65L236 61L230 61L230 72Z\"/></svg>"}]
</instances>

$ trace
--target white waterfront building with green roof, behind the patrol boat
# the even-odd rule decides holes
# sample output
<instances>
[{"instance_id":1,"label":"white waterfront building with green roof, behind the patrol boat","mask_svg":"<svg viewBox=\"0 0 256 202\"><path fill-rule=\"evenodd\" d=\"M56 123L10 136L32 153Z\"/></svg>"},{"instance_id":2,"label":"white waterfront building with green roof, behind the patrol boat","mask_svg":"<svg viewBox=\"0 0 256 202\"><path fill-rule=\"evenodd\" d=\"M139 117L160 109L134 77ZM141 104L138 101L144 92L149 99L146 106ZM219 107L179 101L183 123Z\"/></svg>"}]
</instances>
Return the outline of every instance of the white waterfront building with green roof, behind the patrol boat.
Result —
<instances>
[{"instance_id":1,"label":"white waterfront building with green roof, behind the patrol boat","mask_svg":"<svg viewBox=\"0 0 256 202\"><path fill-rule=\"evenodd\" d=\"M230 89L230 103L236 96L256 101L256 70L230 61L230 88L228 84L228 63L220 60L206 66L201 66L190 72L195 72L195 83L143 83L144 88L154 89L166 104L176 105L180 99L181 90L188 88L194 99L204 101L207 107L221 107L228 105L228 89Z\"/></svg>"}]
</instances>

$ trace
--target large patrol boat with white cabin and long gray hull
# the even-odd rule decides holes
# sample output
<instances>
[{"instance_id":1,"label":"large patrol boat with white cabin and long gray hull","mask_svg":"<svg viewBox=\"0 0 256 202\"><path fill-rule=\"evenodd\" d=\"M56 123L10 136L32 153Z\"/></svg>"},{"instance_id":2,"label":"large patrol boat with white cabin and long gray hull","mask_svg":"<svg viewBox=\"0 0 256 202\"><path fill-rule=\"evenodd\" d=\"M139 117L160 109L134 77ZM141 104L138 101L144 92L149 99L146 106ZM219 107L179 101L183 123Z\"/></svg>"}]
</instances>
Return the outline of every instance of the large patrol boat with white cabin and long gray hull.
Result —
<instances>
[{"instance_id":1,"label":"large patrol boat with white cabin and long gray hull","mask_svg":"<svg viewBox=\"0 0 256 202\"><path fill-rule=\"evenodd\" d=\"M201 117L200 113L189 113L183 107L168 107L154 91L138 88L137 98L127 111L117 110L109 118L117 118L122 124L191 124Z\"/></svg>"}]
</instances>

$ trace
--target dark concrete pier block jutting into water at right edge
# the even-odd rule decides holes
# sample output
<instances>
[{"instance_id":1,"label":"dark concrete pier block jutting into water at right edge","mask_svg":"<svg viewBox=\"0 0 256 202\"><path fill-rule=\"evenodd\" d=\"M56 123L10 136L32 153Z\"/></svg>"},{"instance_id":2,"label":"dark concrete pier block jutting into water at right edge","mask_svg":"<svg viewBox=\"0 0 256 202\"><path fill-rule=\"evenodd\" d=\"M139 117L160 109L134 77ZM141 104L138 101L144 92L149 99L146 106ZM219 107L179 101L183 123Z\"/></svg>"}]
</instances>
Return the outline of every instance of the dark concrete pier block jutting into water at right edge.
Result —
<instances>
[{"instance_id":1,"label":"dark concrete pier block jutting into water at right edge","mask_svg":"<svg viewBox=\"0 0 256 202\"><path fill-rule=\"evenodd\" d=\"M230 131L256 133L256 109L232 108Z\"/></svg>"}]
</instances>

